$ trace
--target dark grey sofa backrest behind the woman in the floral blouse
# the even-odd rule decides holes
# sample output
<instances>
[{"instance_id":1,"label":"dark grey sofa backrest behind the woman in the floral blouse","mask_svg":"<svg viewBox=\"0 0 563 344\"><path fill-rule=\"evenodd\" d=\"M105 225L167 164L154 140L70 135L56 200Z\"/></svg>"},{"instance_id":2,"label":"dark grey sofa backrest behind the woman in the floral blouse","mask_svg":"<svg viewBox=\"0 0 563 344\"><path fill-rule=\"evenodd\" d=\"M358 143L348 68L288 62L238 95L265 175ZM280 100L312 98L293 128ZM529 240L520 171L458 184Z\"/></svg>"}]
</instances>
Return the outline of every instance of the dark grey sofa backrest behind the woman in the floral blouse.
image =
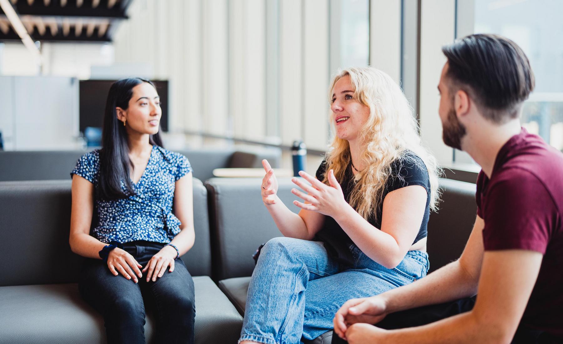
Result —
<instances>
[{"instance_id":1,"label":"dark grey sofa backrest behind the woman in the floral blouse","mask_svg":"<svg viewBox=\"0 0 563 344\"><path fill-rule=\"evenodd\" d=\"M0 182L0 286L71 283L82 257L70 251L71 181ZM195 244L182 256L191 275L211 275L207 190L194 178Z\"/></svg>"}]
</instances>

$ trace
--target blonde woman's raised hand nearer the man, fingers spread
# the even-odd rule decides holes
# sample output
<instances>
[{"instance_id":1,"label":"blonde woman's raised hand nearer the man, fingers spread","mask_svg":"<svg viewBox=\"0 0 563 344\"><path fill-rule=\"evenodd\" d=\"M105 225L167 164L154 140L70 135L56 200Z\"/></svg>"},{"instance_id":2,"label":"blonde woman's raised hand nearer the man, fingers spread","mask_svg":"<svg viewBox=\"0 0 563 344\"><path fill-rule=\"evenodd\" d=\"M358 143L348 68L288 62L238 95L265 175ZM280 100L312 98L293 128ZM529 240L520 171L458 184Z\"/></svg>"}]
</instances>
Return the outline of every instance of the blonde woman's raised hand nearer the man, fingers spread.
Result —
<instances>
[{"instance_id":1,"label":"blonde woman's raised hand nearer the man, fingers spread","mask_svg":"<svg viewBox=\"0 0 563 344\"><path fill-rule=\"evenodd\" d=\"M339 211L342 211L343 207L348 205L332 169L328 172L330 186L323 184L309 173L300 171L299 175L310 182L311 185L297 178L292 178L291 181L305 190L306 194L297 189L291 189L291 192L309 203L305 204L294 200L293 204L297 207L334 217Z\"/></svg>"}]
</instances>

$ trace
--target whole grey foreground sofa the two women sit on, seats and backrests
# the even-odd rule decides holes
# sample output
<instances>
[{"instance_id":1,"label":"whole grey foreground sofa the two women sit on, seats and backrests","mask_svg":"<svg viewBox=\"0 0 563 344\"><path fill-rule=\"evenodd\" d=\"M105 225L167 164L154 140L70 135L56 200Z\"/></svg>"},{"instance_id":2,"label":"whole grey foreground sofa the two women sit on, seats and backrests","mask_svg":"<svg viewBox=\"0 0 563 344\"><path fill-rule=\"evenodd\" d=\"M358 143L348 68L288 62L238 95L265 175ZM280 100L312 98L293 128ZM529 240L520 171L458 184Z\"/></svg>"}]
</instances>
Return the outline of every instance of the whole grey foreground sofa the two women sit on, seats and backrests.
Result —
<instances>
[{"instance_id":1,"label":"whole grey foreground sofa the two women sit on, seats and backrests","mask_svg":"<svg viewBox=\"0 0 563 344\"><path fill-rule=\"evenodd\" d=\"M194 277L196 343L236 343L252 254L280 236L260 198L260 178L194 180L196 242L182 260ZM292 211L289 178L280 198ZM428 223L431 270L461 254L475 220L475 184L441 180L443 203ZM101 316L76 285L81 258L68 245L70 180L0 182L0 343L102 343ZM211 276L211 278L209 278ZM218 285L218 287L217 287ZM147 315L148 342L154 321ZM330 332L312 343L330 343Z\"/></svg>"}]
</instances>

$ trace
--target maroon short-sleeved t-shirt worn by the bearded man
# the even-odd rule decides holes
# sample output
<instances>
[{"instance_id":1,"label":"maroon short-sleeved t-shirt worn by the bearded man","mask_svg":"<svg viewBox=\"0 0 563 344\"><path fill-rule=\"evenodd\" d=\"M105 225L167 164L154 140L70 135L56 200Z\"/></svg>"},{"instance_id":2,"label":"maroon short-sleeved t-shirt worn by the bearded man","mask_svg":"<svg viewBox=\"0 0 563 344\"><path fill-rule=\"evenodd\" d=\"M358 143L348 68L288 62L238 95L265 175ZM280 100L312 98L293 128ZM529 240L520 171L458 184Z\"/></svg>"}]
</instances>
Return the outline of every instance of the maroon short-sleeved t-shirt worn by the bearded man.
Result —
<instances>
[{"instance_id":1,"label":"maroon short-sleeved t-shirt worn by the bearded man","mask_svg":"<svg viewBox=\"0 0 563 344\"><path fill-rule=\"evenodd\" d=\"M476 200L485 251L543 254L522 324L563 337L563 154L522 128L498 152L490 180L479 173Z\"/></svg>"}]
</instances>

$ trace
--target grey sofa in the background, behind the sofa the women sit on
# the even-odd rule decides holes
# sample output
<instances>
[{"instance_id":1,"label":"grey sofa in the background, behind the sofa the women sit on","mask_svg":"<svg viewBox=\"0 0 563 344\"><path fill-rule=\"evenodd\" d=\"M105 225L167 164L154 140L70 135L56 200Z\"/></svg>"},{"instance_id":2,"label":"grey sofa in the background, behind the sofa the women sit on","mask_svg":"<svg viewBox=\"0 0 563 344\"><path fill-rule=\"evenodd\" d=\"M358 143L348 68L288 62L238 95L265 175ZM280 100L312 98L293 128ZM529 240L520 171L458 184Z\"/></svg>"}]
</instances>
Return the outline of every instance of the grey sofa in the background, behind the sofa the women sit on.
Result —
<instances>
[{"instance_id":1,"label":"grey sofa in the background, behind the sofa the women sit on","mask_svg":"<svg viewBox=\"0 0 563 344\"><path fill-rule=\"evenodd\" d=\"M66 180L78 159L89 150L0 151L0 181ZM180 150L194 167L199 180L213 177L213 169L225 167L262 167L268 159L279 167L282 153L275 148Z\"/></svg>"}]
</instances>

